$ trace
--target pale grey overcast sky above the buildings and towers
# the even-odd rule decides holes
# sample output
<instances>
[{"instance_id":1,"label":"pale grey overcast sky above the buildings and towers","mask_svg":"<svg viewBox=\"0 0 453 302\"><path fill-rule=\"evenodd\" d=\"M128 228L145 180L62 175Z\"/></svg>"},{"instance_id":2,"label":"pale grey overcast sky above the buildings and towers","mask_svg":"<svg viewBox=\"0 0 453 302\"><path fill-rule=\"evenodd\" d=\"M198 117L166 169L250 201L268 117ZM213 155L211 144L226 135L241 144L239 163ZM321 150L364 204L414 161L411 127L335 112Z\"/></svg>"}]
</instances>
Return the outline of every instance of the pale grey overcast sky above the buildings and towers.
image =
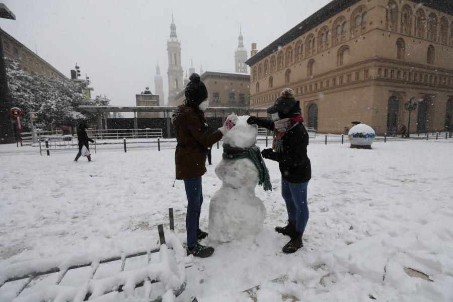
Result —
<instances>
[{"instance_id":1,"label":"pale grey overcast sky above the buildings and towers","mask_svg":"<svg viewBox=\"0 0 453 302\"><path fill-rule=\"evenodd\" d=\"M167 40L172 12L184 69L234 70L242 25L250 56L330 0L0 0L16 21L0 27L70 77L75 62L95 89L115 106L134 106L135 94L154 91L156 62L167 87ZM250 72L250 70L249 70ZM162 102L161 102L162 104Z\"/></svg>"}]
</instances>

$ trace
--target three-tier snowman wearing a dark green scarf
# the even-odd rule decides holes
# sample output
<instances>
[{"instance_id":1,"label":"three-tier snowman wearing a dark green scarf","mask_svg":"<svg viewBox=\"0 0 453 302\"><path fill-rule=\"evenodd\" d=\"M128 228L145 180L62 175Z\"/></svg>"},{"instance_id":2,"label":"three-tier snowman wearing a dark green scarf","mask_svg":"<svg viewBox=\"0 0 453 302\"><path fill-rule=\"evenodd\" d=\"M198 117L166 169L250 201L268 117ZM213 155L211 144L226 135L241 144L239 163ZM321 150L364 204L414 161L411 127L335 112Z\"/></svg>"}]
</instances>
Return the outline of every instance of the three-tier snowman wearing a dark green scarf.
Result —
<instances>
[{"instance_id":1,"label":"three-tier snowman wearing a dark green scarf","mask_svg":"<svg viewBox=\"0 0 453 302\"><path fill-rule=\"evenodd\" d=\"M222 186L209 204L209 239L217 242L258 234L266 216L255 187L262 183L265 190L271 189L269 173L255 146L258 127L249 125L247 118L240 116L223 137L223 159L215 168Z\"/></svg>"}]
</instances>

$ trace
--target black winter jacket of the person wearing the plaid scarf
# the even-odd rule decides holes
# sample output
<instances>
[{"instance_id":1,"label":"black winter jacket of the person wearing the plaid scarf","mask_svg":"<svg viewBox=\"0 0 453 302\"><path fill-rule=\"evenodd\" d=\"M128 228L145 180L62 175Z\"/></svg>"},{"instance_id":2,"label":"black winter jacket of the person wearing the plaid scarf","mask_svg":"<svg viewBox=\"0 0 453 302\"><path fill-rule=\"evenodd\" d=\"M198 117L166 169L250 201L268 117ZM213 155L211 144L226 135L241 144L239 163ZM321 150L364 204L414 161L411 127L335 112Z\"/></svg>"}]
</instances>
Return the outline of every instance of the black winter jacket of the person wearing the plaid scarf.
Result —
<instances>
[{"instance_id":1,"label":"black winter jacket of the person wearing the plaid scarf","mask_svg":"<svg viewBox=\"0 0 453 302\"><path fill-rule=\"evenodd\" d=\"M258 118L257 125L274 130L274 122ZM278 162L281 176L290 183L307 182L312 177L312 167L307 156L309 135L303 124L286 131L283 137L283 152L274 152L270 160Z\"/></svg>"}]
</instances>

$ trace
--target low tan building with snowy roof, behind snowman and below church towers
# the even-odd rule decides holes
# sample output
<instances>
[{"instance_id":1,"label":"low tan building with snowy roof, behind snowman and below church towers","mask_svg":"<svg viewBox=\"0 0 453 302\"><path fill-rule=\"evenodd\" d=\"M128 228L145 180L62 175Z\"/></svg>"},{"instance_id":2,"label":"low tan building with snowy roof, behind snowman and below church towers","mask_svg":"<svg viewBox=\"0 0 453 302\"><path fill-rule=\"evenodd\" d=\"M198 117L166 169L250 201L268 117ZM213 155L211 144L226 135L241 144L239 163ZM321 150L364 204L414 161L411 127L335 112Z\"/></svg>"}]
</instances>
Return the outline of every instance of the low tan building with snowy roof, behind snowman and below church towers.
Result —
<instances>
[{"instance_id":1,"label":"low tan building with snowy roof, behind snowman and below church towers","mask_svg":"<svg viewBox=\"0 0 453 302\"><path fill-rule=\"evenodd\" d=\"M205 71L201 75L201 81L206 85L208 91L209 108L250 107L250 75L238 72ZM177 105L185 100L184 90L176 97ZM206 114L213 117L213 114Z\"/></svg>"}]
</instances>

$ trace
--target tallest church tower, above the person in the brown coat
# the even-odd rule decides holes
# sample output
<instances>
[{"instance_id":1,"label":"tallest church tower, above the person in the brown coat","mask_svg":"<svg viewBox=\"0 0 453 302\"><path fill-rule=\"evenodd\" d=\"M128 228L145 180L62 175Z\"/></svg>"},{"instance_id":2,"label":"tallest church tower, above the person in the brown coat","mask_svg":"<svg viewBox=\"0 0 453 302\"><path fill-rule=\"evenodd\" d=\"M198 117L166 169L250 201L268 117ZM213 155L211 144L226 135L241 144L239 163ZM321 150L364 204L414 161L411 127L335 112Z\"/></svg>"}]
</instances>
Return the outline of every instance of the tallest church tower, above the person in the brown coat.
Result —
<instances>
[{"instance_id":1,"label":"tallest church tower, above the person in the brown coat","mask_svg":"<svg viewBox=\"0 0 453 302\"><path fill-rule=\"evenodd\" d=\"M167 41L168 51L168 104L177 106L174 97L184 89L184 71L181 66L181 43L176 35L176 25L172 14L172 24L170 25L170 39Z\"/></svg>"}]
</instances>

